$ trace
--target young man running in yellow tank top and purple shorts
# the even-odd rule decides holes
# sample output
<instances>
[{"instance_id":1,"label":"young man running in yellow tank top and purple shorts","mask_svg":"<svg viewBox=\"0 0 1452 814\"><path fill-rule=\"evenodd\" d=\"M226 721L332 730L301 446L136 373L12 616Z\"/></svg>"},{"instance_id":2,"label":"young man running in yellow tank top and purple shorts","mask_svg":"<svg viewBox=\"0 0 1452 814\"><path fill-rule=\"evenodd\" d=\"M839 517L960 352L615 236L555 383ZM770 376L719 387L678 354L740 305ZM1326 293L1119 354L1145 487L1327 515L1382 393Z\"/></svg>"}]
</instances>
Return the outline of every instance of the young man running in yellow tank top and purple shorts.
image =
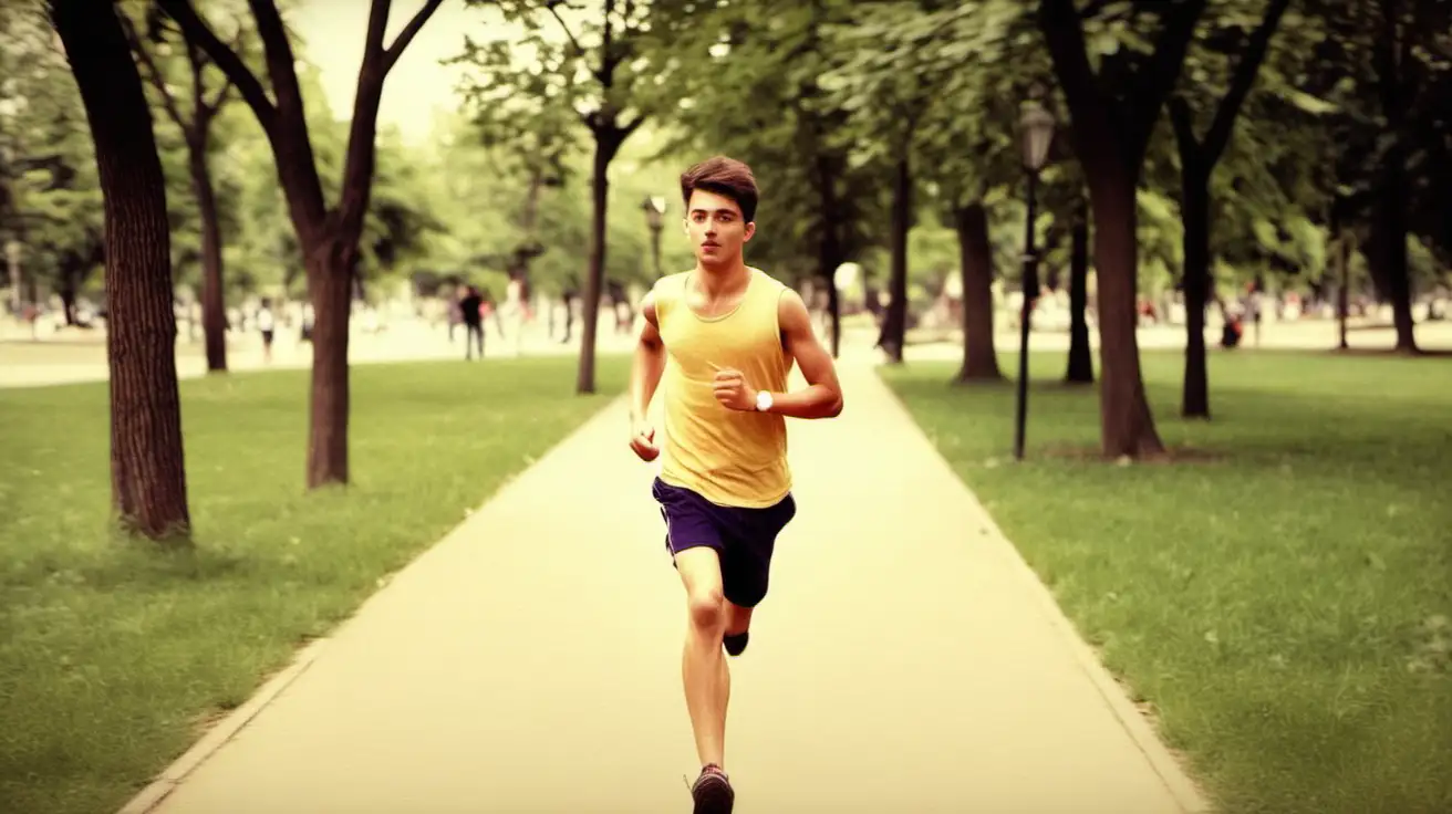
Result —
<instances>
[{"instance_id":1,"label":"young man running in yellow tank top and purple shorts","mask_svg":"<svg viewBox=\"0 0 1452 814\"><path fill-rule=\"evenodd\" d=\"M802 297L742 260L756 231L751 168L711 158L681 176L681 196L696 268L658 280L640 303L630 448L646 461L661 456L652 495L685 585L681 676L701 759L691 797L697 814L729 814L736 795L725 770L730 673L722 647L732 656L746 649L772 546L796 514L786 418L836 416L842 387ZM788 393L793 361L807 387ZM646 416L658 385L659 444Z\"/></svg>"}]
</instances>

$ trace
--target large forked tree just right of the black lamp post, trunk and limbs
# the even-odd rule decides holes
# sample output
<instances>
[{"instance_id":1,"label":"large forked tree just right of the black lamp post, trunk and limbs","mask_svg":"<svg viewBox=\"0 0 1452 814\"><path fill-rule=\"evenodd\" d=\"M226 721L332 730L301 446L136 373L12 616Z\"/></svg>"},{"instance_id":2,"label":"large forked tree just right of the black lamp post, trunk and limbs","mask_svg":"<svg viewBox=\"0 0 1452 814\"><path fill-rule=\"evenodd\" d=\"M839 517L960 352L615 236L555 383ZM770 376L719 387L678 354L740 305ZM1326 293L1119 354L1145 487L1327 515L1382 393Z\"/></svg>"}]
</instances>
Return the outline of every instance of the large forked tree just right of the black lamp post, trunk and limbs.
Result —
<instances>
[{"instance_id":1,"label":"large forked tree just right of the black lamp post, trunk and limbs","mask_svg":"<svg viewBox=\"0 0 1452 814\"><path fill-rule=\"evenodd\" d=\"M1153 13L1159 33L1149 55L1121 48L1089 59L1085 20L1074 0L1040 0L1038 23L1069 104L1074 148L1093 206L1099 293L1099 425L1109 457L1165 450L1144 395L1135 293L1138 284L1135 193L1150 135L1175 90L1205 0L1154 4L1095 3L1101 15ZM1134 22L1134 20L1131 20Z\"/></svg>"}]
</instances>

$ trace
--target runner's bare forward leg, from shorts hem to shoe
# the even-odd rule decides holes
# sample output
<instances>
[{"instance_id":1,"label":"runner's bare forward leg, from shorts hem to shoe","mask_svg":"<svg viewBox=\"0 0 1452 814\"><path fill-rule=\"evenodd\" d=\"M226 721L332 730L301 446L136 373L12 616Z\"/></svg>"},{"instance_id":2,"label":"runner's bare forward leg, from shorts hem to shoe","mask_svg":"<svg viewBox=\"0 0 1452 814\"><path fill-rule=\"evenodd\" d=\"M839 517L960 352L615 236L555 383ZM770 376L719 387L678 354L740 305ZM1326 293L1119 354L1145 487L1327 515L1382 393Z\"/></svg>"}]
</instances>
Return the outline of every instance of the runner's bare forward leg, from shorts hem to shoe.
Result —
<instances>
[{"instance_id":1,"label":"runner's bare forward leg, from shorts hem to shoe","mask_svg":"<svg viewBox=\"0 0 1452 814\"><path fill-rule=\"evenodd\" d=\"M685 583L685 649L681 679L685 708L696 734L701 766L726 766L726 705L730 701L730 670L722 653L726 633L726 596L722 593L720 557L714 548L697 546L675 554L675 569Z\"/></svg>"}]
</instances>

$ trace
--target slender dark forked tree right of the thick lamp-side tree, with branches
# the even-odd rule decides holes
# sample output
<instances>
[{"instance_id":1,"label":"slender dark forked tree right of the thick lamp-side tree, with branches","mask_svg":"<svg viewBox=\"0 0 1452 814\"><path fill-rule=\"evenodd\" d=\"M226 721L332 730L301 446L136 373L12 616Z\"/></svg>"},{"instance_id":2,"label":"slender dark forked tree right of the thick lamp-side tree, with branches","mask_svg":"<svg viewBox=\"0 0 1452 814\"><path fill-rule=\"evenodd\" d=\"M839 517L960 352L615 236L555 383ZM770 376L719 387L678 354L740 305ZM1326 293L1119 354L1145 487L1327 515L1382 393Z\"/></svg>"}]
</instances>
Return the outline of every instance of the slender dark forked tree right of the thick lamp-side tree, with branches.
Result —
<instances>
[{"instance_id":1,"label":"slender dark forked tree right of the thick lamp-side tree, with branches","mask_svg":"<svg viewBox=\"0 0 1452 814\"><path fill-rule=\"evenodd\" d=\"M1195 135L1195 110L1186 94L1169 102L1170 122L1180 160L1180 218L1185 223L1185 386L1180 395L1180 415L1210 418L1210 374L1205 366L1205 309L1211 295L1211 207L1210 178L1220 163L1236 128L1240 107L1260 73L1260 64L1270 48L1270 38L1291 0L1269 0L1265 16L1255 30L1246 32L1241 19L1224 22L1212 38L1217 44L1244 39L1240 58L1230 75L1230 87L1215 106L1214 118L1204 138ZM1218 28L1218 26L1217 26ZM1231 45L1233 48L1234 45Z\"/></svg>"}]
</instances>

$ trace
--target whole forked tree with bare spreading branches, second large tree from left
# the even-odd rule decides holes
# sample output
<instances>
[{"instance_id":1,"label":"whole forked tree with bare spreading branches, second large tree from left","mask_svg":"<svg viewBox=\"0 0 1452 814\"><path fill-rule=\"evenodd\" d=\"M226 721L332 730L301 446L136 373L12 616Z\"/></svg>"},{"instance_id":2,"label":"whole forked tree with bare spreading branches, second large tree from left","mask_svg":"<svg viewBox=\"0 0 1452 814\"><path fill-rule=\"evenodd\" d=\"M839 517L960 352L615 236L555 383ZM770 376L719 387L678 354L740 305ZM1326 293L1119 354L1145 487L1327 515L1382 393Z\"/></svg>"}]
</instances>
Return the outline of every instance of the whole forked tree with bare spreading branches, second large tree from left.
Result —
<instances>
[{"instance_id":1,"label":"whole forked tree with bare spreading branches, second large tree from left","mask_svg":"<svg viewBox=\"0 0 1452 814\"><path fill-rule=\"evenodd\" d=\"M391 0L372 0L363 64L348 129L343 186L328 206L308 133L308 118L298 84L296 57L282 15L273 0L248 0L253 29L261 39L272 97L261 81L197 15L192 0L157 0L186 39L199 46L257 116L272 145L277 180L287 199L298 244L308 273L314 309L312 393L308 422L308 488L348 480L348 316L362 255L360 238L373 189L375 135L383 81L443 0L425 0L385 46Z\"/></svg>"}]
</instances>

